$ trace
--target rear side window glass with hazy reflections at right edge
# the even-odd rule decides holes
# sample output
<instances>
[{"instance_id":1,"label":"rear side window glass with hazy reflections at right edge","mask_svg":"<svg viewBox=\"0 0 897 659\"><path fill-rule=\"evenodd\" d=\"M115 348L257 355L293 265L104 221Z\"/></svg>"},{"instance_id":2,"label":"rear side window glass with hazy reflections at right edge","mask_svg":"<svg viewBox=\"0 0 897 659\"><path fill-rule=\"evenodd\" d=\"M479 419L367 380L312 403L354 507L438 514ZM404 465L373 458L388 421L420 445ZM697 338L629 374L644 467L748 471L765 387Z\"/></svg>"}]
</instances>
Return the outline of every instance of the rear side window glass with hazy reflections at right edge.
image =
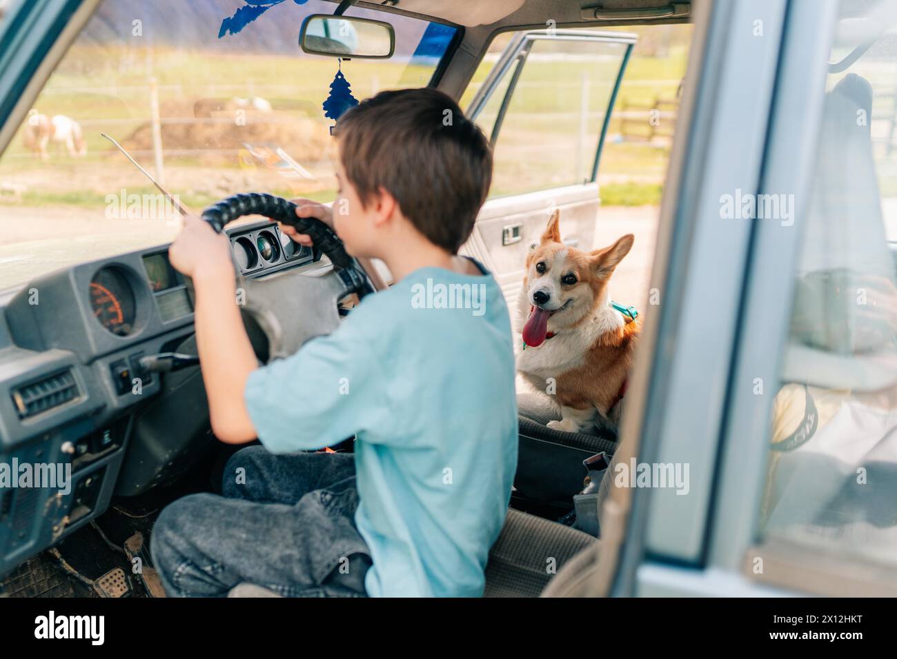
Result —
<instances>
[{"instance_id":1,"label":"rear side window glass with hazy reflections at right edge","mask_svg":"<svg viewBox=\"0 0 897 659\"><path fill-rule=\"evenodd\" d=\"M893 567L897 12L880 13L886 4L841 21L832 48L760 533Z\"/></svg>"}]
</instances>

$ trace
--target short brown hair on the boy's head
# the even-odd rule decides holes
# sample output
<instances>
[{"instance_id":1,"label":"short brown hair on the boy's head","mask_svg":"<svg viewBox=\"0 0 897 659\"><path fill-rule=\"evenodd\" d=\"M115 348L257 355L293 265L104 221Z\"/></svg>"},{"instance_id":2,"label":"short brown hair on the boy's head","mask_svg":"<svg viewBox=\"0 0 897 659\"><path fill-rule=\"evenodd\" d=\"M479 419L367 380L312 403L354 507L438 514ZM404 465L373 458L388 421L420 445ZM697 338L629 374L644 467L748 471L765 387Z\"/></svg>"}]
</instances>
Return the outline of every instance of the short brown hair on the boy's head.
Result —
<instances>
[{"instance_id":1,"label":"short brown hair on the boy's head","mask_svg":"<svg viewBox=\"0 0 897 659\"><path fill-rule=\"evenodd\" d=\"M457 254L492 182L492 149L434 89L381 91L336 123L345 175L367 204L380 188L434 245Z\"/></svg>"}]
</instances>

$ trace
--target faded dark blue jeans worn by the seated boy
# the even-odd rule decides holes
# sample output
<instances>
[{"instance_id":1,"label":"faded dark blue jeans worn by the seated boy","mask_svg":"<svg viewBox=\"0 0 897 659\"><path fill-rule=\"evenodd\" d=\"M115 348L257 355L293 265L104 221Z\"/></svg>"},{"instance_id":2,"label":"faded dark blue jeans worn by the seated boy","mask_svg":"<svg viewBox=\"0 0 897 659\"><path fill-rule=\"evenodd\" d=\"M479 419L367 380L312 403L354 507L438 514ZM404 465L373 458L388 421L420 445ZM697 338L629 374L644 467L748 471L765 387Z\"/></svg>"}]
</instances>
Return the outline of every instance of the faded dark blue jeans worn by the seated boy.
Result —
<instances>
[{"instance_id":1,"label":"faded dark blue jeans worn by the seated boy","mask_svg":"<svg viewBox=\"0 0 897 659\"><path fill-rule=\"evenodd\" d=\"M222 496L162 510L152 562L170 596L223 597L248 582L286 597L363 597L371 561L357 507L353 455L246 447L224 469Z\"/></svg>"}]
</instances>

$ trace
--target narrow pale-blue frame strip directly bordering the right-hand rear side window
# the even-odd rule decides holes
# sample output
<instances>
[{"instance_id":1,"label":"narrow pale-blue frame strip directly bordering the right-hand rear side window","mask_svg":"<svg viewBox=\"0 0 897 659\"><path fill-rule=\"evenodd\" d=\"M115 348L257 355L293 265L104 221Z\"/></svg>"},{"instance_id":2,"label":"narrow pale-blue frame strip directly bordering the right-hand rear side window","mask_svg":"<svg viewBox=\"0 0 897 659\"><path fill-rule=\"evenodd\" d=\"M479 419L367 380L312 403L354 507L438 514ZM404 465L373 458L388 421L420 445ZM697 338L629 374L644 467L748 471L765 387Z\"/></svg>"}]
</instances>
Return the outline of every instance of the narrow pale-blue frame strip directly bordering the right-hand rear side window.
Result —
<instances>
[{"instance_id":1,"label":"narrow pale-blue frame strip directly bordering the right-hand rear side window","mask_svg":"<svg viewBox=\"0 0 897 659\"><path fill-rule=\"evenodd\" d=\"M793 191L806 208L813 177L827 60L836 23L837 3L807 7L788 4L779 74L770 110L770 129L758 194ZM818 100L818 102L814 102ZM772 402L779 390L781 361L788 343L794 273L803 245L804 225L754 220L739 340L733 352L726 429L712 499L714 533L710 561L726 568L748 564L762 555L753 545L770 452ZM753 395L761 378L763 395ZM746 553L745 553L746 551Z\"/></svg>"}]
</instances>

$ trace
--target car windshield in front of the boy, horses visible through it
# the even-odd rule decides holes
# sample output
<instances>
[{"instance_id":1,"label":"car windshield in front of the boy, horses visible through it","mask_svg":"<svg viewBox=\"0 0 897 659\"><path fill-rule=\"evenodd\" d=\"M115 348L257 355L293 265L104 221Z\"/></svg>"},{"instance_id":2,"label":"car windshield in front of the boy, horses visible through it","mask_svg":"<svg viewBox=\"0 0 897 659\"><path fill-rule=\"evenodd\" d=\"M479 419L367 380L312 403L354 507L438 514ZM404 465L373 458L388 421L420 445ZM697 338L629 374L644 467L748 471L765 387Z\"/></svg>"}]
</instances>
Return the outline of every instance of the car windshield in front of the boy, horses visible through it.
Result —
<instances>
[{"instance_id":1,"label":"car windshield in front of the boy, horses visible through it","mask_svg":"<svg viewBox=\"0 0 897 659\"><path fill-rule=\"evenodd\" d=\"M393 56L302 52L302 20L335 6L101 2L0 157L0 288L177 234L179 214L102 133L192 212L248 191L332 200L331 83L357 100L425 86L456 33L350 8L394 26Z\"/></svg>"}]
</instances>

